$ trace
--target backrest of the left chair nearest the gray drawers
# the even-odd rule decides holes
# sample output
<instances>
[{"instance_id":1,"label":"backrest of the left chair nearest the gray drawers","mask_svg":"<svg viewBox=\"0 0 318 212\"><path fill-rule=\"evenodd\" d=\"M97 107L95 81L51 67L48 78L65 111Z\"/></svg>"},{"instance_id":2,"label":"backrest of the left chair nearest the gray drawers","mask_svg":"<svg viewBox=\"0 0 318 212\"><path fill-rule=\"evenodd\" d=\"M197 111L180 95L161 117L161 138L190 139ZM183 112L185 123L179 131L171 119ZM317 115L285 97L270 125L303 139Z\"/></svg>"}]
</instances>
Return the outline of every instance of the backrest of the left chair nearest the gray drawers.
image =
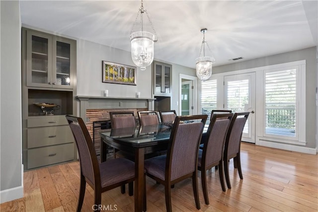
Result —
<instances>
[{"instance_id":1,"label":"backrest of the left chair nearest the gray drawers","mask_svg":"<svg viewBox=\"0 0 318 212\"><path fill-rule=\"evenodd\" d=\"M93 185L100 184L100 172L94 144L83 120L75 116L66 116L72 130L79 151L80 172L86 182Z\"/></svg>"}]
</instances>

